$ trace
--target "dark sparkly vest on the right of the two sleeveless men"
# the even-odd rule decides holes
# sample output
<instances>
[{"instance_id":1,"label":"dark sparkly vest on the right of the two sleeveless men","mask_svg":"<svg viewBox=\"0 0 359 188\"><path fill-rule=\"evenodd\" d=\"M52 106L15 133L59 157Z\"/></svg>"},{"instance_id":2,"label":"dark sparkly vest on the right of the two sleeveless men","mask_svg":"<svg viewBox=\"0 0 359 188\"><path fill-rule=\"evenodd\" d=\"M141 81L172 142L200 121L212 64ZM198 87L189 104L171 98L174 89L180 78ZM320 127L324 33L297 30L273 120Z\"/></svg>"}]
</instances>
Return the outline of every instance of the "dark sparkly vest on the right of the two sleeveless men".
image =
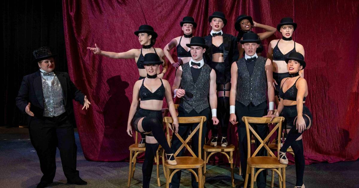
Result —
<instances>
[{"instance_id":1,"label":"dark sparkly vest on the right of the two sleeveless men","mask_svg":"<svg viewBox=\"0 0 359 188\"><path fill-rule=\"evenodd\" d=\"M267 58L258 56L252 75L249 74L246 59L243 57L237 61L237 96L236 101L248 106L251 102L257 106L267 99Z\"/></svg>"}]
</instances>

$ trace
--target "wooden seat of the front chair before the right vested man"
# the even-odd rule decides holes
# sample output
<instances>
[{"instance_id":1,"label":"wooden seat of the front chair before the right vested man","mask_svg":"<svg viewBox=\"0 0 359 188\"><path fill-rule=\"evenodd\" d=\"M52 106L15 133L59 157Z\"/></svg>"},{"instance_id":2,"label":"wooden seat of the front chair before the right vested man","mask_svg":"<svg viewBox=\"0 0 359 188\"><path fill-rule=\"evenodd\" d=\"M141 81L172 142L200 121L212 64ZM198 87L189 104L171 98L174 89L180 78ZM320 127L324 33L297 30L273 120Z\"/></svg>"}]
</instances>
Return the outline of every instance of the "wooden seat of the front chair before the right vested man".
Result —
<instances>
[{"instance_id":1,"label":"wooden seat of the front chair before the right vested man","mask_svg":"<svg viewBox=\"0 0 359 188\"><path fill-rule=\"evenodd\" d=\"M279 163L278 158L271 156L255 156L247 159L249 167L254 168L283 168L286 164Z\"/></svg>"}]
</instances>

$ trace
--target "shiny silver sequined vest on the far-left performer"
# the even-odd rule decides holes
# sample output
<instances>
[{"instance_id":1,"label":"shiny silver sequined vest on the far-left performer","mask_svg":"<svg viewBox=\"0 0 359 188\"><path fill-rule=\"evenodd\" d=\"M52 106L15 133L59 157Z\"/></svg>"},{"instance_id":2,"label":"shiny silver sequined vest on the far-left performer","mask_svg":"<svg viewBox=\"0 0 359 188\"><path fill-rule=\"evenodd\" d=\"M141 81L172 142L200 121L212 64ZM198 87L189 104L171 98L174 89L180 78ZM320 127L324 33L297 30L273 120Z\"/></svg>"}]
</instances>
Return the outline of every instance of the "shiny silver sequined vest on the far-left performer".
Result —
<instances>
[{"instance_id":1,"label":"shiny silver sequined vest on the far-left performer","mask_svg":"<svg viewBox=\"0 0 359 188\"><path fill-rule=\"evenodd\" d=\"M44 113L45 117L59 116L66 111L64 105L64 95L59 79L55 75L51 82L51 86L48 85L46 80L42 78L42 93L44 101Z\"/></svg>"}]
</instances>

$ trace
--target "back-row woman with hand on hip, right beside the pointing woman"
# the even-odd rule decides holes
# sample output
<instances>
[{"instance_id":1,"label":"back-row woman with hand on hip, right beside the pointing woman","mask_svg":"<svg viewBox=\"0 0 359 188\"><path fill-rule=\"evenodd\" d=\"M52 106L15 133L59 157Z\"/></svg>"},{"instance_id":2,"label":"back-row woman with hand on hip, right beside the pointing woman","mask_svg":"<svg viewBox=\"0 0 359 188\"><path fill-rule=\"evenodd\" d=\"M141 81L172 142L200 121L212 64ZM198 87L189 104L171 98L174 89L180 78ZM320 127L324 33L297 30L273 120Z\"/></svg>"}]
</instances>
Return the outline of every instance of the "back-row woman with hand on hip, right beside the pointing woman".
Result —
<instances>
[{"instance_id":1,"label":"back-row woman with hand on hip, right beside the pointing woman","mask_svg":"<svg viewBox=\"0 0 359 188\"><path fill-rule=\"evenodd\" d=\"M186 16L182 19L180 25L183 31L183 35L172 39L171 42L169 42L163 49L164 55L175 68L178 68L180 65L190 61L191 59L191 52L186 44L191 42L191 38L193 37L193 30L197 27L197 23L191 16ZM169 51L174 47L177 48L178 61L174 61L171 54L169 54Z\"/></svg>"}]
</instances>

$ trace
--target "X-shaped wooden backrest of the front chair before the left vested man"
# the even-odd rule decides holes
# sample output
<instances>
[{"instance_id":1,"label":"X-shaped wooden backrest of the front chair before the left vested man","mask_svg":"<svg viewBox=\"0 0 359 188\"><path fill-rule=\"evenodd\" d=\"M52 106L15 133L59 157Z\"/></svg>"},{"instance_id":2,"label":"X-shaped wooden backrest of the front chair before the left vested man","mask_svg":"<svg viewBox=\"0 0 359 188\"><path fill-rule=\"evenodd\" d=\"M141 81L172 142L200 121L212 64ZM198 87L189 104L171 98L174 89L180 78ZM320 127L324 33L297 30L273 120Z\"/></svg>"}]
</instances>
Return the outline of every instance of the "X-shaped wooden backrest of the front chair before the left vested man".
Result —
<instances>
[{"instance_id":1,"label":"X-shaped wooden backrest of the front chair before the left vested man","mask_svg":"<svg viewBox=\"0 0 359 188\"><path fill-rule=\"evenodd\" d=\"M172 117L164 117L163 118L163 122L165 122L166 124L166 132L167 132L167 142L169 145L171 145L171 141L169 138L169 130L172 131L172 136L176 135L177 138L182 142L182 145L176 150L176 152L174 153L174 156L176 157L178 155L178 153L180 153L180 151L183 149L183 147L187 148L187 150L191 153L191 155L193 157L198 157L201 158L201 153L202 153L202 147L201 147L201 135L202 135L202 127L203 127L203 123L206 121L206 117L205 116L196 116L196 117L177 117L178 119L178 123L179 124L194 124L194 123L198 123L198 125L196 126L196 128L194 130L192 130L191 134L188 135L188 137L186 138L186 140L183 140L183 138L177 133L174 134L173 130L172 130ZM199 131L199 138L198 138L198 155L196 156L195 153L192 151L190 145L188 145L188 141L190 141L190 139L196 134L196 132Z\"/></svg>"}]
</instances>

